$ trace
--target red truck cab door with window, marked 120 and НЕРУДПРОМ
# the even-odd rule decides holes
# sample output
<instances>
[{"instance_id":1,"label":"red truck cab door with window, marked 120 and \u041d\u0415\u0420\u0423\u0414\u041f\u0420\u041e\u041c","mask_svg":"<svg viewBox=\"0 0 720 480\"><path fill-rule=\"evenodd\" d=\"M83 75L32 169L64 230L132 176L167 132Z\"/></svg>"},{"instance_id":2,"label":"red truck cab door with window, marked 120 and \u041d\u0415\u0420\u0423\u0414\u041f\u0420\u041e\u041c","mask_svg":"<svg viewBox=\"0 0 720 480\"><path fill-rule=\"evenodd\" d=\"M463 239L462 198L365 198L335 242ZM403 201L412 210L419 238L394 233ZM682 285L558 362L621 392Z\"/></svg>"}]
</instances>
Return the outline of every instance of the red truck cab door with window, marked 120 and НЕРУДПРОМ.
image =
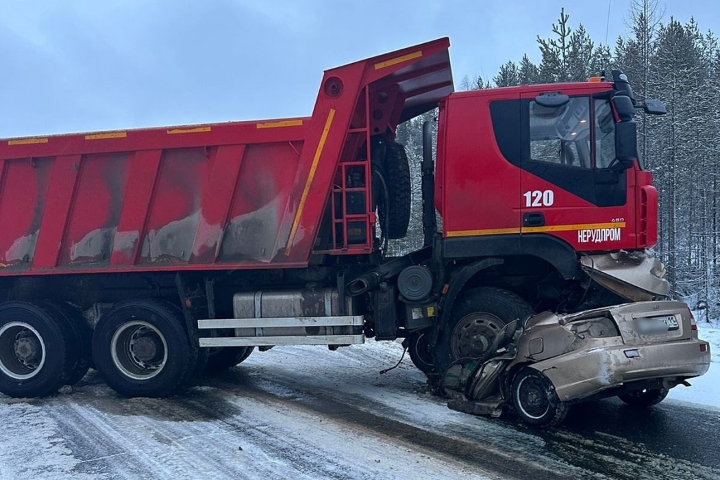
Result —
<instances>
[{"instance_id":1,"label":"red truck cab door with window, marked 120 and \u041d\u0415\u0420\u0423\u0414\u041f\u0420\u041e\u041c","mask_svg":"<svg viewBox=\"0 0 720 480\"><path fill-rule=\"evenodd\" d=\"M559 107L521 101L522 234L552 235L577 251L634 248L634 176L616 168L607 98L563 92Z\"/></svg>"}]
</instances>

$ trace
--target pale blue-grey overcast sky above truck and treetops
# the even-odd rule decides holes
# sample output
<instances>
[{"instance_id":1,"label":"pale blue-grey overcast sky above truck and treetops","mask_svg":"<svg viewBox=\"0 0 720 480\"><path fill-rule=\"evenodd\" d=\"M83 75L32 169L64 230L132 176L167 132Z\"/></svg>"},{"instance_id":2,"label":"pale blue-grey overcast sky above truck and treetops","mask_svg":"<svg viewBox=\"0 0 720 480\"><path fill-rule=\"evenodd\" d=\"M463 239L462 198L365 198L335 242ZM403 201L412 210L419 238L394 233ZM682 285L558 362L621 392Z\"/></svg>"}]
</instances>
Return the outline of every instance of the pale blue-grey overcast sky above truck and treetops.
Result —
<instances>
[{"instance_id":1,"label":"pale blue-grey overcast sky above truck and treetops","mask_svg":"<svg viewBox=\"0 0 720 480\"><path fill-rule=\"evenodd\" d=\"M450 37L456 85L631 0L0 0L0 137L309 115L323 70ZM719 0L668 0L720 35Z\"/></svg>"}]
</instances>

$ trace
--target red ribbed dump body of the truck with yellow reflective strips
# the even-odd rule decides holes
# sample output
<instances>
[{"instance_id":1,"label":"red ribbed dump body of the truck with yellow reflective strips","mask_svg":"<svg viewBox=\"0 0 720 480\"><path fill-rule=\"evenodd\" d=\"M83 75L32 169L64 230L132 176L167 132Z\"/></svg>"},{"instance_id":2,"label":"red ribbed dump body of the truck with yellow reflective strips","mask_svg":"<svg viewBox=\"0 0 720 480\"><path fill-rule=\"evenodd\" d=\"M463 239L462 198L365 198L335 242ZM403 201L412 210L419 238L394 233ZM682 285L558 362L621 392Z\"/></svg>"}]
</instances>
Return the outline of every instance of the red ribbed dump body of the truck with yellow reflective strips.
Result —
<instances>
[{"instance_id":1,"label":"red ribbed dump body of the truck with yellow reflective strips","mask_svg":"<svg viewBox=\"0 0 720 480\"><path fill-rule=\"evenodd\" d=\"M1 140L0 276L370 253L370 137L452 91L448 47L326 71L312 117Z\"/></svg>"}]
</instances>

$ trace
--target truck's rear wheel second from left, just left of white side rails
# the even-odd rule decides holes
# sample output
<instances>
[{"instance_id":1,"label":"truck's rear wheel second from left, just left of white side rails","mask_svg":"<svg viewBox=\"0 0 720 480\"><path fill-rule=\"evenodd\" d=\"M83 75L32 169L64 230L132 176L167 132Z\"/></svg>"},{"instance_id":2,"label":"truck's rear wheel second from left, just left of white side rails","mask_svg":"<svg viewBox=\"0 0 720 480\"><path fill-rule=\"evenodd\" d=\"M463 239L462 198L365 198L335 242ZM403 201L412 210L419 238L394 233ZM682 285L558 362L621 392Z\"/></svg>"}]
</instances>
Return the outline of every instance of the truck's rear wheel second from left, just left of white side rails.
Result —
<instances>
[{"instance_id":1,"label":"truck's rear wheel second from left, just left of white side rails","mask_svg":"<svg viewBox=\"0 0 720 480\"><path fill-rule=\"evenodd\" d=\"M125 397L166 397L184 386L197 363L184 323L171 304L120 302L95 327L95 366Z\"/></svg>"}]
</instances>

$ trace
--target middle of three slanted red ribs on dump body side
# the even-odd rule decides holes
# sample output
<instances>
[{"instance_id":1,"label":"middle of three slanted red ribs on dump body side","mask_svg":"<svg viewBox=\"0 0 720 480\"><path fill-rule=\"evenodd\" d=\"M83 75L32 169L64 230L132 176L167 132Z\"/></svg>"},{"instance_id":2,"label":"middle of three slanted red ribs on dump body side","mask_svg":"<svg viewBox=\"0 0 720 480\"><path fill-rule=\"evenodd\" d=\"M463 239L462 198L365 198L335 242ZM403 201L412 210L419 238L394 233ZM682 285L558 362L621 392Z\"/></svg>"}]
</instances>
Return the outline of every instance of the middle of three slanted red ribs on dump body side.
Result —
<instances>
[{"instance_id":1,"label":"middle of three slanted red ribs on dump body side","mask_svg":"<svg viewBox=\"0 0 720 480\"><path fill-rule=\"evenodd\" d=\"M125 196L112 243L110 264L113 266L132 265L138 257L162 154L162 150L144 150L135 153L130 160Z\"/></svg>"}]
</instances>

